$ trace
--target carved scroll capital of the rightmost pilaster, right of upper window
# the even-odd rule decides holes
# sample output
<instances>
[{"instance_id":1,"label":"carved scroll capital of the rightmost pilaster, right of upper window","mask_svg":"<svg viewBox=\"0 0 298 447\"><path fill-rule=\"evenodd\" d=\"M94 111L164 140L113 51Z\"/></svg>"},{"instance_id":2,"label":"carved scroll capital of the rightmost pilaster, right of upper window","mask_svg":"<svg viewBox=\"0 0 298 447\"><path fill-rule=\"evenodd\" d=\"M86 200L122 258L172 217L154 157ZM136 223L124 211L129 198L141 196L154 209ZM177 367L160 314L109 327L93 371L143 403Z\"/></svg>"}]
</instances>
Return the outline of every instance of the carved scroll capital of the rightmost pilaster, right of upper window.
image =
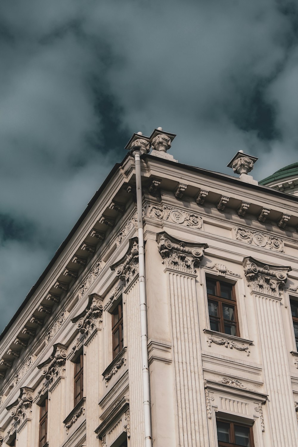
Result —
<instances>
[{"instance_id":1,"label":"carved scroll capital of the rightmost pilaster, right of upper window","mask_svg":"<svg viewBox=\"0 0 298 447\"><path fill-rule=\"evenodd\" d=\"M244 274L252 291L278 298L285 287L291 267L265 264L252 257L244 259Z\"/></svg>"}]
</instances>

